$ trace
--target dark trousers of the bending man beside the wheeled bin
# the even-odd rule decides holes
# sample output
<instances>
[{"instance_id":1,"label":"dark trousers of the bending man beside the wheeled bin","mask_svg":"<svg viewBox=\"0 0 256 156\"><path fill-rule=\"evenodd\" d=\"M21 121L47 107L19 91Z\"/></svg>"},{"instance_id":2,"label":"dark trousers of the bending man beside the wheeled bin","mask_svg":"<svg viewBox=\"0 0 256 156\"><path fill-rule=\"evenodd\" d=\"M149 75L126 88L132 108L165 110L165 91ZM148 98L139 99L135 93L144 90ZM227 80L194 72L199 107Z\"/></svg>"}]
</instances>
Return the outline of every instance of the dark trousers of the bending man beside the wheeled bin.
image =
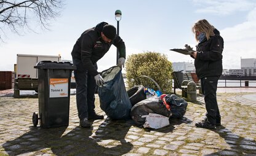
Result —
<instances>
[{"instance_id":1,"label":"dark trousers of the bending man beside the wheeled bin","mask_svg":"<svg viewBox=\"0 0 256 156\"><path fill-rule=\"evenodd\" d=\"M73 60L73 62L76 60ZM74 63L75 64L75 63ZM95 89L96 82L94 76L90 76L87 71L81 70L79 64L74 71L74 79L76 80L76 106L78 107L79 119L84 119L88 115L95 114ZM97 64L95 63L95 68Z\"/></svg>"}]
</instances>

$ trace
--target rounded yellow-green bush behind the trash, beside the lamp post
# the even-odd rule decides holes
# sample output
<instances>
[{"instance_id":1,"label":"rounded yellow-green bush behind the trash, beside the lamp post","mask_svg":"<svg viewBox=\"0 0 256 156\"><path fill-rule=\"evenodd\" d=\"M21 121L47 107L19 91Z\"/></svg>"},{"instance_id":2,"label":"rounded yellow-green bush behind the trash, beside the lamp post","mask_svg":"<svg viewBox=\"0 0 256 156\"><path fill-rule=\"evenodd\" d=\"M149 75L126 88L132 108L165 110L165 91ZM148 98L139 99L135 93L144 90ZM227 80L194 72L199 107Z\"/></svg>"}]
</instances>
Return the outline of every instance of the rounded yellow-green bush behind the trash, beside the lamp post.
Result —
<instances>
[{"instance_id":1,"label":"rounded yellow-green bush behind the trash, beside the lamp post","mask_svg":"<svg viewBox=\"0 0 256 156\"><path fill-rule=\"evenodd\" d=\"M170 93L172 90L172 63L167 60L166 55L157 52L144 52L129 55L126 60L127 87L142 84L145 87L158 90L154 82L148 78L140 76L149 76L154 79L162 93Z\"/></svg>"}]
</instances>

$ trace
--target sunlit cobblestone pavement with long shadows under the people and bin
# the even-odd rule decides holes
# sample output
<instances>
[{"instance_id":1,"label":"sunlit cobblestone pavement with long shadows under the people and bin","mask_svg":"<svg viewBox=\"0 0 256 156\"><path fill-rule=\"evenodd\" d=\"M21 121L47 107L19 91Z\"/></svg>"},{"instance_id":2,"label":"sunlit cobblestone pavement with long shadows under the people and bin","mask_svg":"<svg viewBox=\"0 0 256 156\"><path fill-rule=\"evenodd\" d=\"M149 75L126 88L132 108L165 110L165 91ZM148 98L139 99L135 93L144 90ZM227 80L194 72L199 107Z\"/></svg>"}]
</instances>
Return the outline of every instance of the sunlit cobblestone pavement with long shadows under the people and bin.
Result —
<instances>
[{"instance_id":1,"label":"sunlit cobblestone pavement with long shadows under the people and bin","mask_svg":"<svg viewBox=\"0 0 256 156\"><path fill-rule=\"evenodd\" d=\"M95 120L79 127L75 95L70 96L68 127L33 127L38 98L0 98L0 155L256 155L255 93L218 93L222 127L194 127L202 120L202 96L189 103L183 119L158 130L135 127L132 120ZM96 100L99 114L98 98Z\"/></svg>"}]
</instances>

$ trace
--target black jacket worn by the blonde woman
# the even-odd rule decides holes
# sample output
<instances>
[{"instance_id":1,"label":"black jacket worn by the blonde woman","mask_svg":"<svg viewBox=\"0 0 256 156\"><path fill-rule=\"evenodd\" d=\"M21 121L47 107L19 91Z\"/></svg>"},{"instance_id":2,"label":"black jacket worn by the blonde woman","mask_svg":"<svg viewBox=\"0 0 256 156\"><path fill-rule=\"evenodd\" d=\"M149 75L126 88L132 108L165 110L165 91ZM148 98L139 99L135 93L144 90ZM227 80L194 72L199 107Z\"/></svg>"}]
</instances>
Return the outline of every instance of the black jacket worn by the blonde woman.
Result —
<instances>
[{"instance_id":1,"label":"black jacket worn by the blonde woman","mask_svg":"<svg viewBox=\"0 0 256 156\"><path fill-rule=\"evenodd\" d=\"M199 79L210 76L222 75L222 51L223 38L220 32L214 29L215 36L210 36L207 41L205 38L196 46L197 56L194 60L196 74Z\"/></svg>"}]
</instances>

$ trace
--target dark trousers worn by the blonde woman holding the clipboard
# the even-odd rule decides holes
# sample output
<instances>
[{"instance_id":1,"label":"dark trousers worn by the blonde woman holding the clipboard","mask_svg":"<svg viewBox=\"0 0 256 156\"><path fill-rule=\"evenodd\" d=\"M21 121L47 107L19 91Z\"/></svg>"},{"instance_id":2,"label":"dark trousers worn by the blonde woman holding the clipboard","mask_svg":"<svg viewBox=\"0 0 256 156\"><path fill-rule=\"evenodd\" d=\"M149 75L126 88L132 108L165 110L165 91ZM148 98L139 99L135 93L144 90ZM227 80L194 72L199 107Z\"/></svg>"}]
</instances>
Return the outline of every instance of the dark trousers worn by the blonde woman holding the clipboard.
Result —
<instances>
[{"instance_id":1,"label":"dark trousers worn by the blonde woman holding the clipboard","mask_svg":"<svg viewBox=\"0 0 256 156\"><path fill-rule=\"evenodd\" d=\"M201 79L202 93L204 94L204 102L206 103L206 117L211 123L220 122L220 111L216 98L218 79L220 77L204 77Z\"/></svg>"}]
</instances>

